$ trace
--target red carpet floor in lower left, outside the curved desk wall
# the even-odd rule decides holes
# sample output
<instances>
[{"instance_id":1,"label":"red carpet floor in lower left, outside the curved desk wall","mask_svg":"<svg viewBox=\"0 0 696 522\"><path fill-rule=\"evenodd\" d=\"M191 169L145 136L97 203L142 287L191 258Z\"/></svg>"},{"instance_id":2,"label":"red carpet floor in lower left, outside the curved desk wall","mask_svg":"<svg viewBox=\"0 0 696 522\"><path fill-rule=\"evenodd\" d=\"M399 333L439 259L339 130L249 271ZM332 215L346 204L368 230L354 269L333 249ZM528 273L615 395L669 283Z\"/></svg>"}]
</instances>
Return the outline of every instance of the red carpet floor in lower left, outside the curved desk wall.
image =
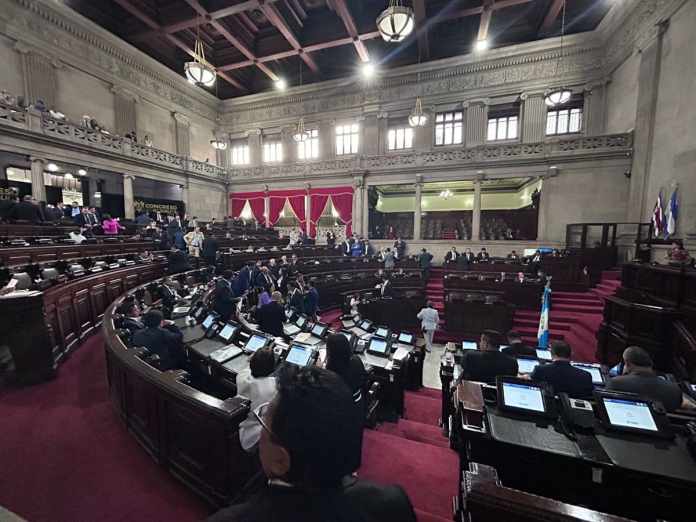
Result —
<instances>
[{"instance_id":1,"label":"red carpet floor in lower left, outside the curved desk wall","mask_svg":"<svg viewBox=\"0 0 696 522\"><path fill-rule=\"evenodd\" d=\"M117 418L100 335L55 380L0 396L0 419L0 505L31 522L184 522L209 514Z\"/></svg>"}]
</instances>

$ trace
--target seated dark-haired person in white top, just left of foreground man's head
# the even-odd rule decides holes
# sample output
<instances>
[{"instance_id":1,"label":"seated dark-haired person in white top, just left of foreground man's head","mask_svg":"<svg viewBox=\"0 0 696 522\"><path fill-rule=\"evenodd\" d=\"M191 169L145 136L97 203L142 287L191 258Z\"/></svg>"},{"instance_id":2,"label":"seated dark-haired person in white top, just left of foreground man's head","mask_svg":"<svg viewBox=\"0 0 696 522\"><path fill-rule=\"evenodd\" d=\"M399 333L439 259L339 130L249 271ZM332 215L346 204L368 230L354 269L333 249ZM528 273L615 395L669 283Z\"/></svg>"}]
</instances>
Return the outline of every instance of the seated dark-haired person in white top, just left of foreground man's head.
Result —
<instances>
[{"instance_id":1,"label":"seated dark-haired person in white top, just left of foreground man's head","mask_svg":"<svg viewBox=\"0 0 696 522\"><path fill-rule=\"evenodd\" d=\"M262 348L249 359L249 368L237 374L237 395L251 401L249 415L239 425L239 442L247 453L254 453L261 437L261 425L254 411L273 400L276 394L275 355L272 348Z\"/></svg>"}]
</instances>

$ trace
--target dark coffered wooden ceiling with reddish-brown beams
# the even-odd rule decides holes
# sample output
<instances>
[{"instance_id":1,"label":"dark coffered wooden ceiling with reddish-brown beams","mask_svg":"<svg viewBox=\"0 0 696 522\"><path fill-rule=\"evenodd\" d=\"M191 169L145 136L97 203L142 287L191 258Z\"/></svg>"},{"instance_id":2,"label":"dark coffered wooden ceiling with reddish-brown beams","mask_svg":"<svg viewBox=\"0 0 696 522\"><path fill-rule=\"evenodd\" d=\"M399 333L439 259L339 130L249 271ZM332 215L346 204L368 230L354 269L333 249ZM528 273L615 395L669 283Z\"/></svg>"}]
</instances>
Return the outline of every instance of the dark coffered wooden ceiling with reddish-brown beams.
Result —
<instances>
[{"instance_id":1,"label":"dark coffered wooden ceiling with reddish-brown beams","mask_svg":"<svg viewBox=\"0 0 696 522\"><path fill-rule=\"evenodd\" d=\"M221 99L393 68L560 33L563 0L405 0L416 31L384 42L375 20L388 0L65 0L98 25L183 75L199 35ZM594 29L612 0L567 0L566 33ZM301 70L301 73L300 73Z\"/></svg>"}]
</instances>

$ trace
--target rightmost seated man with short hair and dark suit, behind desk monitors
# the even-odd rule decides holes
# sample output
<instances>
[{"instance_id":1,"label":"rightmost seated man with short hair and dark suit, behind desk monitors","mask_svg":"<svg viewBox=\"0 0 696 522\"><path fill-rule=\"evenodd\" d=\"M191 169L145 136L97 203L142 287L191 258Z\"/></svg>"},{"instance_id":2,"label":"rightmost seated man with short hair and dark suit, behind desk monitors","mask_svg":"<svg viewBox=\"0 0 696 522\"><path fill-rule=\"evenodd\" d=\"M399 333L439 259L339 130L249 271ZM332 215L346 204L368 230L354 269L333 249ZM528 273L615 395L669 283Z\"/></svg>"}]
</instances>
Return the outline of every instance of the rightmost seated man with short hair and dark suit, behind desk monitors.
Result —
<instances>
[{"instance_id":1,"label":"rightmost seated man with short hair and dark suit, behind desk monitors","mask_svg":"<svg viewBox=\"0 0 696 522\"><path fill-rule=\"evenodd\" d=\"M623 361L623 374L609 381L608 390L636 393L644 399L660 401L667 411L688 406L679 386L655 373L652 358L643 348L629 346L624 350Z\"/></svg>"}]
</instances>

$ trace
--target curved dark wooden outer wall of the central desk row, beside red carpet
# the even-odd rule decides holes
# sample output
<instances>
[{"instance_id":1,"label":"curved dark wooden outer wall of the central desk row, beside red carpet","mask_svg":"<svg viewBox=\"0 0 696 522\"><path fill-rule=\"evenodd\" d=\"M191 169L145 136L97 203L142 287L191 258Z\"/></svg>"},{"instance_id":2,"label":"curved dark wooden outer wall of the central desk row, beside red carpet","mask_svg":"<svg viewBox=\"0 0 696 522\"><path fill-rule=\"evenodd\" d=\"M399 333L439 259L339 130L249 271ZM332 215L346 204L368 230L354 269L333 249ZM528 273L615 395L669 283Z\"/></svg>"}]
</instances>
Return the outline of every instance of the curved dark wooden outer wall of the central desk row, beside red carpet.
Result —
<instances>
[{"instance_id":1,"label":"curved dark wooden outer wall of the central desk row, beside red carpet","mask_svg":"<svg viewBox=\"0 0 696 522\"><path fill-rule=\"evenodd\" d=\"M186 384L185 372L161 372L129 350L112 319L123 298L108 308L103 325L111 401L160 465L212 504L224 505L254 470L238 434L249 403L202 393Z\"/></svg>"}]
</instances>

